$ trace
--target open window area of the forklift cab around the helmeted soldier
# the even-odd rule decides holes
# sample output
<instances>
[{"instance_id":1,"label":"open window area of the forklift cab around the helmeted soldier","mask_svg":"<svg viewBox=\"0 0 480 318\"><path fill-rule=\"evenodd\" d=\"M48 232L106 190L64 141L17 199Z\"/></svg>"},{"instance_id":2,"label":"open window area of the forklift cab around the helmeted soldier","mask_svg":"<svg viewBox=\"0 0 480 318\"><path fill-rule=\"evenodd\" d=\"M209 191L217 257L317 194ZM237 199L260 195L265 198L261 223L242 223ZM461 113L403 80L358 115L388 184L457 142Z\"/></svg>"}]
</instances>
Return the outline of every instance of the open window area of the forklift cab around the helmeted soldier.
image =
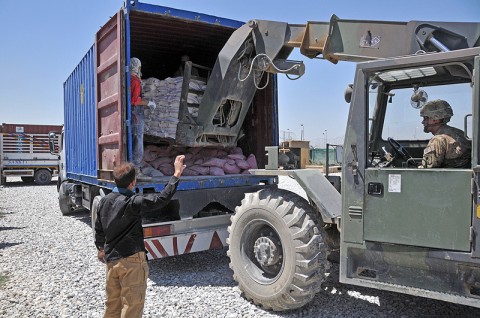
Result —
<instances>
[{"instance_id":1,"label":"open window area of the forklift cab around the helmeted soldier","mask_svg":"<svg viewBox=\"0 0 480 318\"><path fill-rule=\"evenodd\" d=\"M428 78L437 72L433 66L375 74L369 82L367 95L368 167L419 168L425 165L423 151L433 135L424 131L420 111L431 100L447 101L454 113L448 125L461 129L466 139L472 141L471 68L465 66L460 70L463 76L451 77L449 80L453 82L433 83ZM408 79L402 83L402 77Z\"/></svg>"}]
</instances>

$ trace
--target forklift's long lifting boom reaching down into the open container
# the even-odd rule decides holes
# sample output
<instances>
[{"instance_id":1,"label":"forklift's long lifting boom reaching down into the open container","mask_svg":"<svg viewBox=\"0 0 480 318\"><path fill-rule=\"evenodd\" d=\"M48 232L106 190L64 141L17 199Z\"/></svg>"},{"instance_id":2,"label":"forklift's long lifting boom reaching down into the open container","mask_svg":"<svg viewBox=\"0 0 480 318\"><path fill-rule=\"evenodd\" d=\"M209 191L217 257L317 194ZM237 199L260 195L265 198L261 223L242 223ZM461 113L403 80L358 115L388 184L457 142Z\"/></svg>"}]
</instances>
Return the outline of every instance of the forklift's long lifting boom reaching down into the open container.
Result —
<instances>
[{"instance_id":1,"label":"forklift's long lifting boom reaching down into the open container","mask_svg":"<svg viewBox=\"0 0 480 318\"><path fill-rule=\"evenodd\" d=\"M480 46L479 23L341 20L335 15L330 22L303 25L251 20L220 51L198 117L180 118L176 142L190 147L235 146L256 91L269 84L268 73L304 74L303 62L287 60L294 48L308 58L336 64L475 46ZM182 109L186 107L180 106L180 114L188 113Z\"/></svg>"}]
</instances>

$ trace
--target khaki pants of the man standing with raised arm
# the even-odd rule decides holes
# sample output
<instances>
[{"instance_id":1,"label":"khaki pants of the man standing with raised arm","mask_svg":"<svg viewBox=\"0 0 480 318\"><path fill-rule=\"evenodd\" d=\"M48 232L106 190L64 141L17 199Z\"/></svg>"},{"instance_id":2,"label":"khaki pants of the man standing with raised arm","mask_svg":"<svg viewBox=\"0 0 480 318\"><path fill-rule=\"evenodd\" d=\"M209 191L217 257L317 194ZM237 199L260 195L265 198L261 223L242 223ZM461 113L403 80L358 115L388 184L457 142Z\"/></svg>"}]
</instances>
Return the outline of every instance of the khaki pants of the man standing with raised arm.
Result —
<instances>
[{"instance_id":1,"label":"khaki pants of the man standing with raised arm","mask_svg":"<svg viewBox=\"0 0 480 318\"><path fill-rule=\"evenodd\" d=\"M148 273L144 252L107 263L105 318L142 317Z\"/></svg>"}]
</instances>

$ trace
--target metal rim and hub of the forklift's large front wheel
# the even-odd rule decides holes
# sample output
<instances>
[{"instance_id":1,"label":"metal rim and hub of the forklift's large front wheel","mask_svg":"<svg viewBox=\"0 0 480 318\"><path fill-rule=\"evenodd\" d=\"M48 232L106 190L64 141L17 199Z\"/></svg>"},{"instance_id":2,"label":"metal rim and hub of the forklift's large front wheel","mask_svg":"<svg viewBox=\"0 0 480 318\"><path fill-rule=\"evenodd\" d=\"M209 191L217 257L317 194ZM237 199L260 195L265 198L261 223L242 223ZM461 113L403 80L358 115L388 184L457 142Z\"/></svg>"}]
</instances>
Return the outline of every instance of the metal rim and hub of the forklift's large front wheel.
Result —
<instances>
[{"instance_id":1,"label":"metal rim and hub of the forklift's large front wheel","mask_svg":"<svg viewBox=\"0 0 480 318\"><path fill-rule=\"evenodd\" d=\"M252 220L241 238L241 257L245 271L259 284L271 284L284 267L283 246L275 228L265 220Z\"/></svg>"}]
</instances>

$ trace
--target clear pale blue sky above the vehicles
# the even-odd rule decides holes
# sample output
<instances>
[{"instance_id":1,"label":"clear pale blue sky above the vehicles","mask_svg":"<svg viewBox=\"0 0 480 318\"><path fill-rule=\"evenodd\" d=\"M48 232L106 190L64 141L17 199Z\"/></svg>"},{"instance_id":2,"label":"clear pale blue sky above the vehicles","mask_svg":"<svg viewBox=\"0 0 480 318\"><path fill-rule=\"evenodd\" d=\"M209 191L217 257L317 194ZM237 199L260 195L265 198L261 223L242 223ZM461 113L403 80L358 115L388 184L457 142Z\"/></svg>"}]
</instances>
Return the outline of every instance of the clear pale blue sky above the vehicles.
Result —
<instances>
[{"instance_id":1,"label":"clear pale blue sky above the vehicles","mask_svg":"<svg viewBox=\"0 0 480 318\"><path fill-rule=\"evenodd\" d=\"M480 0L145 0L239 21L292 24L341 19L480 22ZM0 0L0 123L63 124L63 83L92 46L94 35L121 0ZM279 75L280 139L341 143L349 105L344 91L355 63L310 60L296 81Z\"/></svg>"}]
</instances>

